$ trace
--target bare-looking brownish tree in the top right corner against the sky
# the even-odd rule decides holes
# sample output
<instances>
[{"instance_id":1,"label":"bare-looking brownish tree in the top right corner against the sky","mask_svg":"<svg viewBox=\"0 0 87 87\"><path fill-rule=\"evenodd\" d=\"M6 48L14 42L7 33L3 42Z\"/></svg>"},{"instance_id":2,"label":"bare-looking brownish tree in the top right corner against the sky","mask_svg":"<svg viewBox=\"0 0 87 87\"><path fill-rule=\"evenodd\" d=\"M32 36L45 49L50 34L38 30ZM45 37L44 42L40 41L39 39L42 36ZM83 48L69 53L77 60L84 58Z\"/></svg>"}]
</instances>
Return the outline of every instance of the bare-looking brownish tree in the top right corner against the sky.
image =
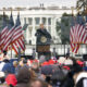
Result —
<instances>
[{"instance_id":1,"label":"bare-looking brownish tree in the top right corner against the sky","mask_svg":"<svg viewBox=\"0 0 87 87\"><path fill-rule=\"evenodd\" d=\"M77 0L76 8L80 10L82 14L85 14L87 8L87 0Z\"/></svg>"}]
</instances>

